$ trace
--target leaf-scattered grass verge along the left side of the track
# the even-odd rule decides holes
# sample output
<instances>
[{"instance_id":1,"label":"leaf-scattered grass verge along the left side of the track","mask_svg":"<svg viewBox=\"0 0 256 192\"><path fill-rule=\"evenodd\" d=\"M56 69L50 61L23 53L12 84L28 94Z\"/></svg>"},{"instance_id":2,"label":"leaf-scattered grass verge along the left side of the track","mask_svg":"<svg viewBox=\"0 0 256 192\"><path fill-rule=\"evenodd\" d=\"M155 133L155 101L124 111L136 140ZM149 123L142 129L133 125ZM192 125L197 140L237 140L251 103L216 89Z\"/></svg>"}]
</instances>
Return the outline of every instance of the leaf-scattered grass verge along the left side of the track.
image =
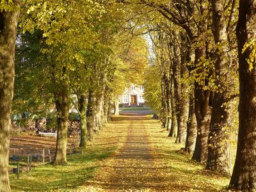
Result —
<instances>
[{"instance_id":1,"label":"leaf-scattered grass verge along the left side of the track","mask_svg":"<svg viewBox=\"0 0 256 192\"><path fill-rule=\"evenodd\" d=\"M76 188L83 185L83 182L93 177L101 166L102 160L111 156L120 147L116 140L125 138L126 132L123 130L127 125L129 124L125 119L109 123L100 131L99 135L95 136L95 141L88 142L88 147L84 154L67 156L67 166L54 166L51 164L36 166L32 168L29 175L22 173L19 180L17 175L10 174L12 191L76 190ZM115 127L115 130L113 130L113 127Z\"/></svg>"}]
</instances>

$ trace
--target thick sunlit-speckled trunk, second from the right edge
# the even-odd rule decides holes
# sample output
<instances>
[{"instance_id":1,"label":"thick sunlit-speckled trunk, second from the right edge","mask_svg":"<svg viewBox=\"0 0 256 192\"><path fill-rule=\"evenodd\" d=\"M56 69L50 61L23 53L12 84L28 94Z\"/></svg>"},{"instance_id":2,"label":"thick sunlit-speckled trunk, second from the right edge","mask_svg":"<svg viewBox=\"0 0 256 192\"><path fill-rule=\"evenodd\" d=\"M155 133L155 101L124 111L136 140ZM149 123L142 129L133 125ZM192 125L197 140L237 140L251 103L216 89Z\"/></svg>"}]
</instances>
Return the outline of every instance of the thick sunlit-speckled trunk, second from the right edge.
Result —
<instances>
[{"instance_id":1,"label":"thick sunlit-speckled trunk, second from the right edge","mask_svg":"<svg viewBox=\"0 0 256 192\"><path fill-rule=\"evenodd\" d=\"M219 44L215 54L215 77L216 86L220 85L221 87L214 93L206 169L230 175L227 131L229 113L225 107L227 94L230 92L228 87L230 69L228 68L228 37L224 6L223 0L212 0L212 33L215 44Z\"/></svg>"}]
</instances>

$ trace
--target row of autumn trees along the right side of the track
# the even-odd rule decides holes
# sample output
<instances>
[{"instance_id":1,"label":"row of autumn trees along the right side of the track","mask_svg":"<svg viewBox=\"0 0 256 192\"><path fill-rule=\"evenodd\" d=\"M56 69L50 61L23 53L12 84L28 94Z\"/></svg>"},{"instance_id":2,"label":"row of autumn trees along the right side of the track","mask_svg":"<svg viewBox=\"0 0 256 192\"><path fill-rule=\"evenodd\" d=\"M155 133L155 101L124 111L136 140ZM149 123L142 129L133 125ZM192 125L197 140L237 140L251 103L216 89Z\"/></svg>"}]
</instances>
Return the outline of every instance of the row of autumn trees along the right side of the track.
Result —
<instances>
[{"instance_id":1,"label":"row of autumn trees along the right side of the track","mask_svg":"<svg viewBox=\"0 0 256 192\"><path fill-rule=\"evenodd\" d=\"M193 153L192 159L230 175L228 143L237 122L239 96L230 188L255 189L255 1L141 0L140 4L154 12L148 24L154 53L145 99L159 111L169 136Z\"/></svg>"}]
</instances>

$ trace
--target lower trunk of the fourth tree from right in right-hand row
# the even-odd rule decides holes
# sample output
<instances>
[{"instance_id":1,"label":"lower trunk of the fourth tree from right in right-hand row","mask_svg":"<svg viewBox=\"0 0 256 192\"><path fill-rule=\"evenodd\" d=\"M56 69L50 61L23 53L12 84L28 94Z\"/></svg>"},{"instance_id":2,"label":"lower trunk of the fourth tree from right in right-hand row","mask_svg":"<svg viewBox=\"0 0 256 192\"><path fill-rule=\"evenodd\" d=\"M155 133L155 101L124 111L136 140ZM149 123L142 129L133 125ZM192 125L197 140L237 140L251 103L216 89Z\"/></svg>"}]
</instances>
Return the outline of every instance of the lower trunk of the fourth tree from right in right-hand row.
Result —
<instances>
[{"instance_id":1,"label":"lower trunk of the fourth tree from right in right-hand row","mask_svg":"<svg viewBox=\"0 0 256 192\"><path fill-rule=\"evenodd\" d=\"M196 125L196 115L195 115L195 99L193 92L190 93L189 97L189 114L187 122L187 137L185 150L191 154L195 150L196 134L197 134L197 125Z\"/></svg>"}]
</instances>

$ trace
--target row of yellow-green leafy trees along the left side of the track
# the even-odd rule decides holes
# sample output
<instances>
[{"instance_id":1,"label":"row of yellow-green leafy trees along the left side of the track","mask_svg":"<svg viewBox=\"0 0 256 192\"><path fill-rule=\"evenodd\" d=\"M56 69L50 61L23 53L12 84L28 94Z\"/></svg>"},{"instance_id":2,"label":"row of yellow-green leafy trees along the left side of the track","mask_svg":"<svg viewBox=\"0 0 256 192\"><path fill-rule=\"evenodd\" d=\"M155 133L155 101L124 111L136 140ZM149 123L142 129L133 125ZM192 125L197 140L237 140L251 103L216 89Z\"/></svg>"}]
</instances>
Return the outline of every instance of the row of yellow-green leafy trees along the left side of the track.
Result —
<instances>
[{"instance_id":1,"label":"row of yellow-green leafy trees along the left side of the track","mask_svg":"<svg viewBox=\"0 0 256 192\"><path fill-rule=\"evenodd\" d=\"M112 1L1 0L0 5L0 191L10 191L12 99L13 113L56 118L53 163L65 165L69 109L79 113L83 152L108 122L126 83L136 81L147 65L147 45L132 33L137 29L131 9Z\"/></svg>"}]
</instances>

